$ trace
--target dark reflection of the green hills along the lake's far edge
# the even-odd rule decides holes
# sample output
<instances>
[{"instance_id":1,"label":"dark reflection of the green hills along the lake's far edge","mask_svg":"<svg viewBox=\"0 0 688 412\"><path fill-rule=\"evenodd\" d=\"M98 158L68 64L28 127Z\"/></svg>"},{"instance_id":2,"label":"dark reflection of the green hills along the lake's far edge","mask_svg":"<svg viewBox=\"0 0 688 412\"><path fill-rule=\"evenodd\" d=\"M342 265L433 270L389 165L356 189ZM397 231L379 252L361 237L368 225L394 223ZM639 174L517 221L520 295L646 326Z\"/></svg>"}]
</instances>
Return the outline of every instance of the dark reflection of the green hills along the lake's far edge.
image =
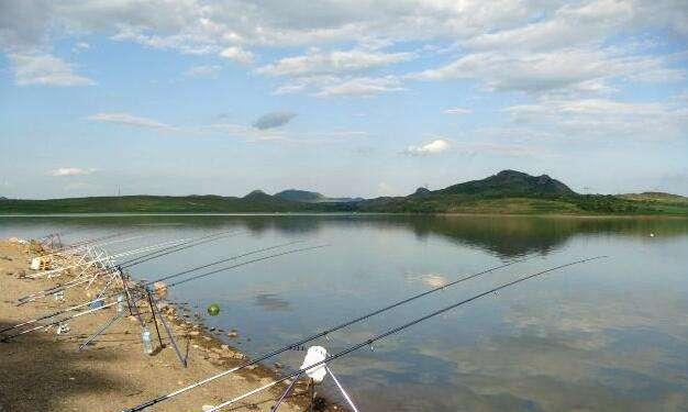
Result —
<instances>
[{"instance_id":1,"label":"dark reflection of the green hills along the lake's far edge","mask_svg":"<svg viewBox=\"0 0 688 412\"><path fill-rule=\"evenodd\" d=\"M323 227L374 227L410 230L419 238L441 236L462 246L476 247L500 257L550 254L577 235L641 236L657 242L688 233L687 219L672 218L566 218L566 216L399 216L399 215L96 215L1 218L20 232L45 234L44 230L78 236L89 230L122 227L220 230L236 227L255 235L280 232L313 236ZM46 227L47 226L47 227ZM69 236L68 236L69 237Z\"/></svg>"}]
</instances>

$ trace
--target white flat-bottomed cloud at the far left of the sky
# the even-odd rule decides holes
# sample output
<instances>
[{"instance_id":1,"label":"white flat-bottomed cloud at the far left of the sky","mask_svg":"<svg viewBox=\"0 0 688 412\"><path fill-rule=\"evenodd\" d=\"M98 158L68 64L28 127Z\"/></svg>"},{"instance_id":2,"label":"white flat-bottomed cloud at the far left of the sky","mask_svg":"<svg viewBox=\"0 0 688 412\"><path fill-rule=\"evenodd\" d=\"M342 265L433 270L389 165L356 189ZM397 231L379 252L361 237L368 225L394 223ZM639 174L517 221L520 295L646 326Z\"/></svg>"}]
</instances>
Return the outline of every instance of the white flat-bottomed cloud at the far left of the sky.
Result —
<instances>
[{"instance_id":1,"label":"white flat-bottomed cloud at the far left of the sky","mask_svg":"<svg viewBox=\"0 0 688 412\"><path fill-rule=\"evenodd\" d=\"M14 81L20 86L89 86L93 80L77 75L74 67L44 53L11 53Z\"/></svg>"}]
</instances>

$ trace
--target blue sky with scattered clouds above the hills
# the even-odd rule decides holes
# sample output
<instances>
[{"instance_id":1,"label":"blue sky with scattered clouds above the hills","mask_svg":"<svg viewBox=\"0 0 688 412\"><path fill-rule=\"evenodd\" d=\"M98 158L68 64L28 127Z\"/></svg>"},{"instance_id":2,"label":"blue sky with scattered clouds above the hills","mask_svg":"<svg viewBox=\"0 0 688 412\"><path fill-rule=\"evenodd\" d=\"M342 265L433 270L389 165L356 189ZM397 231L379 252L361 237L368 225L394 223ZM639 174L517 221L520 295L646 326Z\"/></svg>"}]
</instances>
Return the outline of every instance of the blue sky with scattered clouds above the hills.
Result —
<instances>
[{"instance_id":1,"label":"blue sky with scattered clouds above the hills","mask_svg":"<svg viewBox=\"0 0 688 412\"><path fill-rule=\"evenodd\" d=\"M0 0L0 196L688 194L688 2Z\"/></svg>"}]
</instances>

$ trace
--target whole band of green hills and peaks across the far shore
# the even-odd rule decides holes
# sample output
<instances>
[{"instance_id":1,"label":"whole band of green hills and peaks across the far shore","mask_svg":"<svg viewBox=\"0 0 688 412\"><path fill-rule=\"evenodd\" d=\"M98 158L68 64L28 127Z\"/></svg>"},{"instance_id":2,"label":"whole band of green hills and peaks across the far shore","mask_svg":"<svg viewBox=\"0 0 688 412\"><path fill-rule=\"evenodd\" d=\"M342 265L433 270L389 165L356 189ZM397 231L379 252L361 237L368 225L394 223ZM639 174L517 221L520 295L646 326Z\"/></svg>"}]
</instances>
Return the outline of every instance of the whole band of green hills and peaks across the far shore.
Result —
<instances>
[{"instance_id":1,"label":"whole band of green hills and peaks across the far shore","mask_svg":"<svg viewBox=\"0 0 688 412\"><path fill-rule=\"evenodd\" d=\"M0 213L513 213L688 215L688 199L677 194L579 194L547 175L502 170L480 180L440 190L419 188L403 197L329 198L288 189L254 190L243 198L221 196L126 196L48 200L0 199Z\"/></svg>"}]
</instances>

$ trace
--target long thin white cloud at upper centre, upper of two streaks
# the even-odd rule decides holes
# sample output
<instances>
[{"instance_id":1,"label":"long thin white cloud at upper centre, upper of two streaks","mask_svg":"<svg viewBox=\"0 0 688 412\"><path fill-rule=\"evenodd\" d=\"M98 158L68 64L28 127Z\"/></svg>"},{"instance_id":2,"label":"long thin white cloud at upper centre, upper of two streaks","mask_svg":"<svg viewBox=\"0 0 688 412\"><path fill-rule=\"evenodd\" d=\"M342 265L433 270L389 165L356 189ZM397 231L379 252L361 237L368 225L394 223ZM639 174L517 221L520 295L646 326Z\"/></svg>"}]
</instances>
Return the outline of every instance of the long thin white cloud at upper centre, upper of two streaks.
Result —
<instances>
[{"instance_id":1,"label":"long thin white cloud at upper centre, upper of two streaks","mask_svg":"<svg viewBox=\"0 0 688 412\"><path fill-rule=\"evenodd\" d=\"M365 49L321 52L311 49L307 55L286 57L259 67L256 71L270 76L346 74L404 62L413 57L412 53L382 53Z\"/></svg>"}]
</instances>

